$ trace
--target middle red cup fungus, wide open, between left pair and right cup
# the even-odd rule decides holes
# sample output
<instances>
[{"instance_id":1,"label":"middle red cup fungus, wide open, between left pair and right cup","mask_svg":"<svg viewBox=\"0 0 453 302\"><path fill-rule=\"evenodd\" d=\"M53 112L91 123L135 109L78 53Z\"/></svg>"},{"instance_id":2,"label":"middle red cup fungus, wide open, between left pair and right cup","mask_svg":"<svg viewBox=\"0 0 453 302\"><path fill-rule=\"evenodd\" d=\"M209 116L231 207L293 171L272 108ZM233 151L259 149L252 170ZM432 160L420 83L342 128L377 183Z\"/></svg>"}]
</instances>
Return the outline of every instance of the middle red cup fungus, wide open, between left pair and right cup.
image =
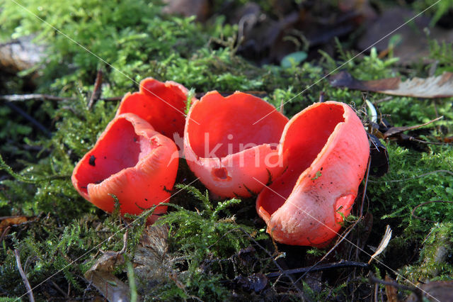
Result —
<instances>
[{"instance_id":1,"label":"middle red cup fungus, wide open, between left pair and right cup","mask_svg":"<svg viewBox=\"0 0 453 302\"><path fill-rule=\"evenodd\" d=\"M224 98L210 91L190 107L185 159L218 196L257 194L263 184L253 178L267 184L284 169L277 146L287 121L256 96L236 91Z\"/></svg>"}]
</instances>

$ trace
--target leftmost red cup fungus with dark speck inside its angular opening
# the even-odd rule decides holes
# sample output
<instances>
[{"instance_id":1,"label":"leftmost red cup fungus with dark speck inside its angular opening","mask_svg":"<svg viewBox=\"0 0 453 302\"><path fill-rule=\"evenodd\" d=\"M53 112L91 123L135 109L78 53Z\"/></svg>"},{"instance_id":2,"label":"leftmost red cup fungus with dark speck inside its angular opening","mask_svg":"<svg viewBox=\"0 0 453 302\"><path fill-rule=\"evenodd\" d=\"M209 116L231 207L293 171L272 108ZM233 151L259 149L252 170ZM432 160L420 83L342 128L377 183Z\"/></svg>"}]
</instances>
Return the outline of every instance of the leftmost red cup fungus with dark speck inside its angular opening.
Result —
<instances>
[{"instance_id":1,"label":"leftmost red cup fungus with dark speck inside its angular opening","mask_svg":"<svg viewBox=\"0 0 453 302\"><path fill-rule=\"evenodd\" d=\"M113 194L120 201L120 213L137 215L170 197L178 170L175 152L175 143L147 121L121 114L76 165L72 184L104 211L113 211ZM166 206L158 206L154 214L165 212Z\"/></svg>"}]
</instances>

